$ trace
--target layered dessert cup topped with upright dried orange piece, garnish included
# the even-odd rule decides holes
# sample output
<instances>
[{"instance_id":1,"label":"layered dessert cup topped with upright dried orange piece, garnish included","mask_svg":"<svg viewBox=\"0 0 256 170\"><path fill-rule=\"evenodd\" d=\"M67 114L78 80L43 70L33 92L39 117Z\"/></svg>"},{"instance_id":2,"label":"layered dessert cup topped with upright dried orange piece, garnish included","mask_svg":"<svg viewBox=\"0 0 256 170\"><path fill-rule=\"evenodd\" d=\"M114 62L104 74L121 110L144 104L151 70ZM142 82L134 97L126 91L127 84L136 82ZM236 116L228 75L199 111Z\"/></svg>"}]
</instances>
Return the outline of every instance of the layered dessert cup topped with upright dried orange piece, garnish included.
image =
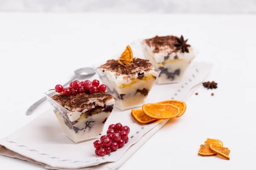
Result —
<instances>
[{"instance_id":1,"label":"layered dessert cup topped with upright dried orange piece, garnish included","mask_svg":"<svg viewBox=\"0 0 256 170\"><path fill-rule=\"evenodd\" d=\"M119 99L116 107L125 110L143 105L160 70L149 60L134 58L128 45L118 59L97 66L96 72L107 85L108 93Z\"/></svg>"}]
</instances>

